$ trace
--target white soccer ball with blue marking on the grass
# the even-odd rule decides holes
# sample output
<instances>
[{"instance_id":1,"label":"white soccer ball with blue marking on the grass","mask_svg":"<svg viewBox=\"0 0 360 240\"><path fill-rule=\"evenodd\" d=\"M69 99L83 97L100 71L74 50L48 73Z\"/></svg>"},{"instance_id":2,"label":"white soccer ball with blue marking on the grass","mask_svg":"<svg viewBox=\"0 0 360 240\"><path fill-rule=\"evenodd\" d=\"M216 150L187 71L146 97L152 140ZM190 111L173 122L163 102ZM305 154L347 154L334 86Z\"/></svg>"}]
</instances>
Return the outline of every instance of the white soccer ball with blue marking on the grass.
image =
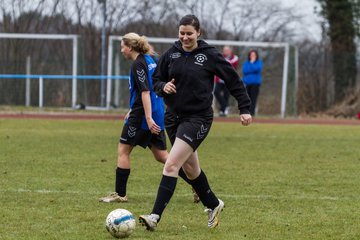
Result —
<instances>
[{"instance_id":1,"label":"white soccer ball with blue marking on the grass","mask_svg":"<svg viewBox=\"0 0 360 240\"><path fill-rule=\"evenodd\" d=\"M105 220L108 232L116 238L125 238L135 230L136 222L131 212L126 209L115 209Z\"/></svg>"}]
</instances>

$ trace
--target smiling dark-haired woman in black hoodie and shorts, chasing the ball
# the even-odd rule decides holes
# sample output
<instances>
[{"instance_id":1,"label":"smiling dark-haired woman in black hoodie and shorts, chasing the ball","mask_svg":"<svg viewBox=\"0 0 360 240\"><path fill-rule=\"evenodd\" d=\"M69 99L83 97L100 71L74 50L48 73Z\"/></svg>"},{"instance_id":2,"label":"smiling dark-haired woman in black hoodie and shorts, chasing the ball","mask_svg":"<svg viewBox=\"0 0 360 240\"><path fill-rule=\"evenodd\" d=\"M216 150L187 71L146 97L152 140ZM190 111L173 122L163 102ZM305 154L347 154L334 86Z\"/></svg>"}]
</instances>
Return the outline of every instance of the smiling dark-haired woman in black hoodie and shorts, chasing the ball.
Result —
<instances>
[{"instance_id":1,"label":"smiling dark-haired woman in black hoodie and shorts, chasing the ball","mask_svg":"<svg viewBox=\"0 0 360 240\"><path fill-rule=\"evenodd\" d=\"M224 202L211 191L207 177L201 170L196 149L209 133L213 121L214 76L224 80L231 95L238 102L240 121L251 123L250 99L244 84L222 54L205 41L199 40L200 23L196 16L186 15L179 23L179 41L159 59L153 75L153 89L164 98L167 110L165 129L172 148L166 160L153 210L140 215L139 221L154 231L177 183L183 168L190 184L208 212L208 228L219 223Z\"/></svg>"}]
</instances>

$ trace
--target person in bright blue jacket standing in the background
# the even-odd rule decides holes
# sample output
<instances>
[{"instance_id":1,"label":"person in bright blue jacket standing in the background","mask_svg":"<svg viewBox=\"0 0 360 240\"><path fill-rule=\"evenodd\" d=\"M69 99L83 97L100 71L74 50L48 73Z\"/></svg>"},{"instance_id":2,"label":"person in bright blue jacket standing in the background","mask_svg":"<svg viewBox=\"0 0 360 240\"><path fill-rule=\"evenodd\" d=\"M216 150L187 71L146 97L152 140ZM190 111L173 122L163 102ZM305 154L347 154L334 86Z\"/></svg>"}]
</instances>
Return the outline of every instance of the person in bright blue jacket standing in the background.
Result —
<instances>
[{"instance_id":1,"label":"person in bright blue jacket standing in the background","mask_svg":"<svg viewBox=\"0 0 360 240\"><path fill-rule=\"evenodd\" d=\"M246 90L251 100L250 114L255 115L256 102L259 95L261 80L261 71L263 63L259 59L259 54L256 50L250 50L248 53L248 59L243 63L243 81L246 86Z\"/></svg>"}]
</instances>

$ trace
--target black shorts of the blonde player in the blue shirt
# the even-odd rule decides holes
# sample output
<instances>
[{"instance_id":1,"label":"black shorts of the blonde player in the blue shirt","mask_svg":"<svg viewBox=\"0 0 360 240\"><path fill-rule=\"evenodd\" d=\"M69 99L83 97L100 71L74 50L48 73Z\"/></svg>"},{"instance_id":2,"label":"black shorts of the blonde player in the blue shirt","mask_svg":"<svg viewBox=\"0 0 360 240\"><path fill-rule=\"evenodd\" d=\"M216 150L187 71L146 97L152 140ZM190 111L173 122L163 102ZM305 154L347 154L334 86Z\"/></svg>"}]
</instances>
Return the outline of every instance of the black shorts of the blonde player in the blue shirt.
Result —
<instances>
[{"instance_id":1,"label":"black shorts of the blonde player in the blue shirt","mask_svg":"<svg viewBox=\"0 0 360 240\"><path fill-rule=\"evenodd\" d=\"M155 147L160 150L166 150L166 136L164 130L159 135L152 134L150 130L144 130L135 125L125 124L121 133L120 143L131 146Z\"/></svg>"}]
</instances>

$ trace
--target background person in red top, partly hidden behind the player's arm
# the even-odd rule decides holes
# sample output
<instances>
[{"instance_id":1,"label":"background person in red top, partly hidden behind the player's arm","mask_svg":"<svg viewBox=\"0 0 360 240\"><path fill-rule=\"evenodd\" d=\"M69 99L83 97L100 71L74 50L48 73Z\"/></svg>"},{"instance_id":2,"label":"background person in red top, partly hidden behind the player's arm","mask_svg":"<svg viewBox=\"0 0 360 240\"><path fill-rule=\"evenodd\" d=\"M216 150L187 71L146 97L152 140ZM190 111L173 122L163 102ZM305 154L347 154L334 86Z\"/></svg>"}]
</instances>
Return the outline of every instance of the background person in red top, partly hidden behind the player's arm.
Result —
<instances>
[{"instance_id":1,"label":"background person in red top, partly hidden behind the player's arm","mask_svg":"<svg viewBox=\"0 0 360 240\"><path fill-rule=\"evenodd\" d=\"M230 46L224 46L222 53L224 58L236 70L239 64L239 58L233 53L232 48ZM220 105L219 117L226 117L229 113L230 93L225 86L224 80L220 79L218 76L215 76L214 95Z\"/></svg>"}]
</instances>

